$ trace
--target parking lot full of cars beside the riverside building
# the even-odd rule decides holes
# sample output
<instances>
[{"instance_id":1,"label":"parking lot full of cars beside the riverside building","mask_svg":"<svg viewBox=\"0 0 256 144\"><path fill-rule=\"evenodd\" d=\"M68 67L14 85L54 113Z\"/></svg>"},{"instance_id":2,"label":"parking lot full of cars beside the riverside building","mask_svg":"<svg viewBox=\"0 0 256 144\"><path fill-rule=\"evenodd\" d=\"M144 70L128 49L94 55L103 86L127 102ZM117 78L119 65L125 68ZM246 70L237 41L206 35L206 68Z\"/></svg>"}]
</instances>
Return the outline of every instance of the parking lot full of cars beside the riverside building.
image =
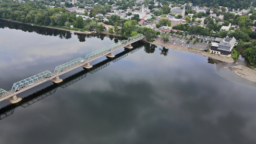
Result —
<instances>
[{"instance_id":1,"label":"parking lot full of cars beside the riverside building","mask_svg":"<svg viewBox=\"0 0 256 144\"><path fill-rule=\"evenodd\" d=\"M189 48L196 48L196 49L207 49L209 48L209 44L205 43L205 42L196 42L195 45L193 44L193 42L195 41L196 37L201 37L201 36L195 36L195 38L193 38L193 40L190 41L189 44L187 44L186 42L189 40L189 38L191 37L191 35L188 35L187 38L179 38L179 37L175 37L175 36L170 36L169 37L169 42L170 44L174 44L174 45L180 45L183 47L189 47ZM158 41L162 41L162 36L156 38L156 40ZM203 40L205 41L205 40Z\"/></svg>"}]
</instances>

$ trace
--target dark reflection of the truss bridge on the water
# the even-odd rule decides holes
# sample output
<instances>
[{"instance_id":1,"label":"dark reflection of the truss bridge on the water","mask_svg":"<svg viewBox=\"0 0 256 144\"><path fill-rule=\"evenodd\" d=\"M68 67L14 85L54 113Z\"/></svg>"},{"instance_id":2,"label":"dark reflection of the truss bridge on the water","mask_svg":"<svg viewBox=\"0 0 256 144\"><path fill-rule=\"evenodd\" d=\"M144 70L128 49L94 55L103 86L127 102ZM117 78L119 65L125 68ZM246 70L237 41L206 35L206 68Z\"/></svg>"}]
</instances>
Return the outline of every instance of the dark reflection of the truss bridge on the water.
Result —
<instances>
[{"instance_id":1,"label":"dark reflection of the truss bridge on the water","mask_svg":"<svg viewBox=\"0 0 256 144\"><path fill-rule=\"evenodd\" d=\"M89 73L97 72L97 71L109 66L111 61L116 62L118 60L121 60L122 58L128 56L129 53L134 53L135 51L137 51L141 48L143 48L143 46L140 46L138 48L132 48L132 49L124 49L122 52L116 54L114 58L106 59L101 62L98 62L97 64L93 65L93 67L91 69L84 69L80 72L77 72L77 73L63 79L63 81L59 84L51 84L33 94L25 96L18 103L9 104L5 107L2 107L0 109L0 120L12 115L15 108L18 108L20 106L23 108L26 108L26 107L36 103L37 101L55 93L58 87L65 88L65 87L85 78L88 72Z\"/></svg>"}]
</instances>

